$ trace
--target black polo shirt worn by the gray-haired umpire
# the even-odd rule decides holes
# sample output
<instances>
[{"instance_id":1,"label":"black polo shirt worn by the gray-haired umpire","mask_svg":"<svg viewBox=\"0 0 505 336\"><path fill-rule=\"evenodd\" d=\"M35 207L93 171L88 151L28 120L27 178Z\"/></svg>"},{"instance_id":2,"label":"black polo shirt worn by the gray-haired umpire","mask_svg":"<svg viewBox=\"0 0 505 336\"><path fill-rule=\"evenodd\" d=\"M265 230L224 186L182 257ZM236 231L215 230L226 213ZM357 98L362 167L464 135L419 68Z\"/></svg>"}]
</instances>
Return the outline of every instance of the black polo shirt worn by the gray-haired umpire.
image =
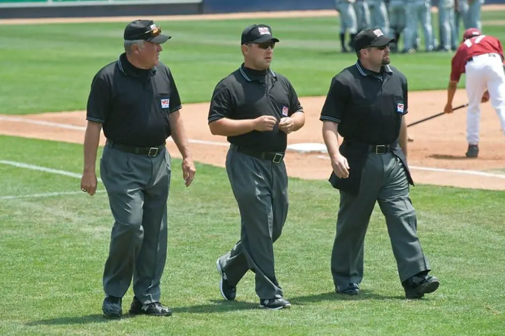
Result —
<instances>
[{"instance_id":1,"label":"black polo shirt worn by the gray-haired umpire","mask_svg":"<svg viewBox=\"0 0 505 336\"><path fill-rule=\"evenodd\" d=\"M135 68L123 53L94 76L86 120L103 124L107 139L129 146L159 146L170 136L168 115L181 99L170 69Z\"/></svg>"}]
</instances>

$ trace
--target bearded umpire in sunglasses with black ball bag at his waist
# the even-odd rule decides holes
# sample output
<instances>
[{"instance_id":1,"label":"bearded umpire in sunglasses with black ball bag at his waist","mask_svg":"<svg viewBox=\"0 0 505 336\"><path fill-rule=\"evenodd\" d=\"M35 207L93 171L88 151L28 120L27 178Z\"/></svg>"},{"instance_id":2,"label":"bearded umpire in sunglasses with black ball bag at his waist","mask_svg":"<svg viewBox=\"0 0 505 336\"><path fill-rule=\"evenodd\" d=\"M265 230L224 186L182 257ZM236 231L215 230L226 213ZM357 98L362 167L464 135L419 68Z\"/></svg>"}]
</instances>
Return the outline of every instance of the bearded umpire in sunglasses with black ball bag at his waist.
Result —
<instances>
[{"instance_id":1,"label":"bearded umpire in sunglasses with black ball bag at his waist","mask_svg":"<svg viewBox=\"0 0 505 336\"><path fill-rule=\"evenodd\" d=\"M330 183L340 190L331 256L336 291L359 294L363 244L375 202L386 219L398 275L408 299L434 292L439 281L419 242L413 184L407 165L407 79L388 64L389 43L379 29L355 39L358 61L336 75L320 120L331 159ZM339 136L344 138L340 141Z\"/></svg>"}]
</instances>

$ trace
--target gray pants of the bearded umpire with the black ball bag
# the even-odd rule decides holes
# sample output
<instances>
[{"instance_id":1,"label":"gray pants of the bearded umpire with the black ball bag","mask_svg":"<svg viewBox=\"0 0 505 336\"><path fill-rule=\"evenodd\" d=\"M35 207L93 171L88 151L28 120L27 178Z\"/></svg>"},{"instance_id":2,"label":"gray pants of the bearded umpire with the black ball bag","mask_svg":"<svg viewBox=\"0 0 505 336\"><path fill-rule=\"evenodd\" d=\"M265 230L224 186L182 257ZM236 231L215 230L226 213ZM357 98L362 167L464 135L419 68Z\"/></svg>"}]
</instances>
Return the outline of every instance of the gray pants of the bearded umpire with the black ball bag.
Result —
<instances>
[{"instance_id":1,"label":"gray pants of the bearded umpire with the black ball bag","mask_svg":"<svg viewBox=\"0 0 505 336\"><path fill-rule=\"evenodd\" d=\"M352 167L351 167L352 169ZM416 212L407 174L393 153L368 154L358 196L340 191L337 231L331 255L335 287L361 283L365 234L375 202L386 218L400 281L430 270L417 237Z\"/></svg>"}]
</instances>

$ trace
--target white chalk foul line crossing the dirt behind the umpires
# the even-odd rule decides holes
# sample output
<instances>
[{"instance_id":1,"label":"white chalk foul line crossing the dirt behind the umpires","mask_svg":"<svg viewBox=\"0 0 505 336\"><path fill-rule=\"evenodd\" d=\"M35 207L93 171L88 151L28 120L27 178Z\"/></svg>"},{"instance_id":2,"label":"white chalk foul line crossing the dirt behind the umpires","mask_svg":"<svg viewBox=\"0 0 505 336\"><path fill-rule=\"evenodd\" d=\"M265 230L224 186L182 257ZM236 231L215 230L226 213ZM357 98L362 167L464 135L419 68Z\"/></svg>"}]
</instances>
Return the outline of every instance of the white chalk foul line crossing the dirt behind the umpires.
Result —
<instances>
[{"instance_id":1,"label":"white chalk foul line crossing the dirt behind the umpires","mask_svg":"<svg viewBox=\"0 0 505 336\"><path fill-rule=\"evenodd\" d=\"M20 123L29 123L29 124L43 125L43 126L51 126L51 127L58 127L58 128L66 128L66 129L73 129L73 130L79 130L79 131L86 130L85 127L81 127L81 126L74 126L74 125L61 124L61 123L52 123L52 122L45 122L45 121L25 119L25 118L0 116L0 120L20 122ZM172 139L169 139L169 140L172 140ZM189 143L197 143L197 144L212 145L212 146L223 146L223 147L229 146L229 143L227 143L227 142L217 142L217 141L207 141L207 140L197 140L197 139L188 139L188 141L189 141ZM329 159L328 156L324 156L324 155L318 155L317 157ZM0 162L2 162L2 161L0 161ZM413 170L420 170L420 171L455 173L455 174L475 175L475 176L505 179L505 175L503 175L503 174L493 174L493 173L485 173L485 172L479 172L479 171L467 171L467 170L445 169L445 168L435 168L435 167L418 167L418 166L409 166L409 168L413 169ZM73 173L70 173L70 174L73 174ZM79 176L79 178L80 178L80 176Z\"/></svg>"}]
</instances>

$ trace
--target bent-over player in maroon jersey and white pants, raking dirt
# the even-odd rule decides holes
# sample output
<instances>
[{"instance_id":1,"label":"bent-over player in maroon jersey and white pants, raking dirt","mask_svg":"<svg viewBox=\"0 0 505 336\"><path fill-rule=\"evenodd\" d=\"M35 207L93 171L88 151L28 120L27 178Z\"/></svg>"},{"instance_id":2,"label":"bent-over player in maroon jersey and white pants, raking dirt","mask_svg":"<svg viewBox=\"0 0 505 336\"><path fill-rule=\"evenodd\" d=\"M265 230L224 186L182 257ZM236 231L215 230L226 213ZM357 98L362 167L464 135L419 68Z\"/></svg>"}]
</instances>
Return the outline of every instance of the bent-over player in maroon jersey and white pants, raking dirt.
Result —
<instances>
[{"instance_id":1,"label":"bent-over player in maroon jersey and white pants, raking dirt","mask_svg":"<svg viewBox=\"0 0 505 336\"><path fill-rule=\"evenodd\" d=\"M491 100L505 134L505 73L500 41L496 37L482 34L477 28L465 31L463 42L452 58L445 113L452 112L452 99L462 73L466 73L468 96L466 155L477 157L481 102Z\"/></svg>"}]
</instances>

